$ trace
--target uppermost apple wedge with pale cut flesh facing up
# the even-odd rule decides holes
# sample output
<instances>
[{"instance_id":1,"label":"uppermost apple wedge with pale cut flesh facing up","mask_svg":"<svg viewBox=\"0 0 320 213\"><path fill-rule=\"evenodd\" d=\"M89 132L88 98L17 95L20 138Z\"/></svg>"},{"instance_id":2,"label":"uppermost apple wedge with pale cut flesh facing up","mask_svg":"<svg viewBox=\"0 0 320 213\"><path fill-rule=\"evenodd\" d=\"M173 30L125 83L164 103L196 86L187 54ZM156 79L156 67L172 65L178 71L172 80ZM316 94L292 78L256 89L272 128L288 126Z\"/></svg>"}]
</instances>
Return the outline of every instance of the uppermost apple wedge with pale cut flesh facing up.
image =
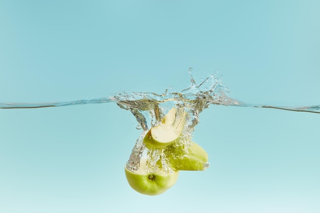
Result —
<instances>
[{"instance_id":1,"label":"uppermost apple wedge with pale cut flesh facing up","mask_svg":"<svg viewBox=\"0 0 320 213\"><path fill-rule=\"evenodd\" d=\"M186 112L177 114L177 109L172 107L164 116L162 123L148 131L143 140L145 145L148 148L164 148L171 145L182 133L185 122Z\"/></svg>"}]
</instances>

